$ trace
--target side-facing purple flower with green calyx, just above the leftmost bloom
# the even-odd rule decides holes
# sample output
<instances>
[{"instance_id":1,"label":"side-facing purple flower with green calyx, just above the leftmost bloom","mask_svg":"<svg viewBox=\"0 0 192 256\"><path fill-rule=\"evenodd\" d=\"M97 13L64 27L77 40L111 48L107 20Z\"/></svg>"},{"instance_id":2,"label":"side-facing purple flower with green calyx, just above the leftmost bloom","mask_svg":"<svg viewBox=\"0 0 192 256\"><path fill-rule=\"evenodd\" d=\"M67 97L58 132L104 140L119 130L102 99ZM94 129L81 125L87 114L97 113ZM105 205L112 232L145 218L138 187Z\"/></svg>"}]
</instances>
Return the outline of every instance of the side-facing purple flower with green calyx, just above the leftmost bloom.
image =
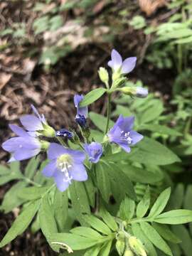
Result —
<instances>
[{"instance_id":1,"label":"side-facing purple flower with green calyx, just above the leftmost bloom","mask_svg":"<svg viewBox=\"0 0 192 256\"><path fill-rule=\"evenodd\" d=\"M38 132L38 135L55 137L55 130L48 125L44 114L39 114L36 107L31 105L34 114L25 114L20 118L21 124L29 132Z\"/></svg>"}]
</instances>

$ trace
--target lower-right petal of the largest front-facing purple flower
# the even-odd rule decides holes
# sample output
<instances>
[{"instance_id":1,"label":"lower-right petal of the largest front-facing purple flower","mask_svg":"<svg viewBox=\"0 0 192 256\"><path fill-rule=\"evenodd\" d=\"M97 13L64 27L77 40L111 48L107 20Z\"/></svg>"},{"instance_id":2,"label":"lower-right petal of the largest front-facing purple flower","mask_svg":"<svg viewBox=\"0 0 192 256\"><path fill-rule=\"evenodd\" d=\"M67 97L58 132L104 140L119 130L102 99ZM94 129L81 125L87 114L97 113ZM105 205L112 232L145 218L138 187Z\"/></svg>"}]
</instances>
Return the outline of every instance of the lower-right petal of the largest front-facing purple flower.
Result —
<instances>
[{"instance_id":1,"label":"lower-right petal of the largest front-facing purple flower","mask_svg":"<svg viewBox=\"0 0 192 256\"><path fill-rule=\"evenodd\" d=\"M83 164L73 164L73 167L69 173L75 181L86 181L88 178L87 171L85 170L85 166Z\"/></svg>"}]
</instances>

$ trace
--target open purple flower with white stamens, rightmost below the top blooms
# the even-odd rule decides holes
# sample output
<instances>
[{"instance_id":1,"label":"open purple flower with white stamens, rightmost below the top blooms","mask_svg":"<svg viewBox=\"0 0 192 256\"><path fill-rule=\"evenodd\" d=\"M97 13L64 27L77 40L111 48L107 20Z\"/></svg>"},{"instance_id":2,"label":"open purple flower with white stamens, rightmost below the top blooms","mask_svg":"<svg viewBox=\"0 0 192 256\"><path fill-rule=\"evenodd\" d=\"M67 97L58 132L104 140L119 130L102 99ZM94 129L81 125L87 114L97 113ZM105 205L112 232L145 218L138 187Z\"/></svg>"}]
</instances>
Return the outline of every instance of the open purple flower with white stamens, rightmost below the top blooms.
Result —
<instances>
[{"instance_id":1,"label":"open purple flower with white stamens, rightmost below the top blooms","mask_svg":"<svg viewBox=\"0 0 192 256\"><path fill-rule=\"evenodd\" d=\"M118 144L129 153L131 151L130 146L143 139L142 134L132 130L133 125L134 117L123 117L120 114L114 127L107 134L110 142Z\"/></svg>"}]
</instances>

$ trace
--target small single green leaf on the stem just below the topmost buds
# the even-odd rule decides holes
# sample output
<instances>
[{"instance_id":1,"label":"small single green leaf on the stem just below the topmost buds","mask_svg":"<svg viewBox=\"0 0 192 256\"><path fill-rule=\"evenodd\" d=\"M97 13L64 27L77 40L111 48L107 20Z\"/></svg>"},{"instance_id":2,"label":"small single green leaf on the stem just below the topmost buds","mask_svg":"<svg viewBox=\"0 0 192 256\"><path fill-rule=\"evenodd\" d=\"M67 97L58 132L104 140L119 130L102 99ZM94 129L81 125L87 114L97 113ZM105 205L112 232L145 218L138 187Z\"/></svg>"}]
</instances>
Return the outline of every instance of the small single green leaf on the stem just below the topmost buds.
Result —
<instances>
[{"instance_id":1,"label":"small single green leaf on the stem just below the topmost buds","mask_svg":"<svg viewBox=\"0 0 192 256\"><path fill-rule=\"evenodd\" d=\"M106 92L105 88L97 88L95 90L92 90L85 95L82 102L80 102L80 107L85 107L87 105L92 104L92 102L95 102L98 100L102 95Z\"/></svg>"}]
</instances>

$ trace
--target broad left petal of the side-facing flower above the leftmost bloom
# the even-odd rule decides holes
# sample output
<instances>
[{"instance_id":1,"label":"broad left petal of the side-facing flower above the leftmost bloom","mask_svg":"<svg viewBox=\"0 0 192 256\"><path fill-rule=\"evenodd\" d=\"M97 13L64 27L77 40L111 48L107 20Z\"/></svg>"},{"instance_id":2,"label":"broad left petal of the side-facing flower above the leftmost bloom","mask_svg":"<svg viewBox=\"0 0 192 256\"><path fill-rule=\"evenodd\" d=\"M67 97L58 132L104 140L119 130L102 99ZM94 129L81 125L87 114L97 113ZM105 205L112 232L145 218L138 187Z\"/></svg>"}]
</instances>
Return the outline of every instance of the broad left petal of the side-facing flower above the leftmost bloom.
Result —
<instances>
[{"instance_id":1,"label":"broad left petal of the side-facing flower above the leftmost bloom","mask_svg":"<svg viewBox=\"0 0 192 256\"><path fill-rule=\"evenodd\" d=\"M38 130L43 130L43 124L41 123L38 117L35 117L33 114L26 114L20 118L21 124L29 132L34 132Z\"/></svg>"}]
</instances>

